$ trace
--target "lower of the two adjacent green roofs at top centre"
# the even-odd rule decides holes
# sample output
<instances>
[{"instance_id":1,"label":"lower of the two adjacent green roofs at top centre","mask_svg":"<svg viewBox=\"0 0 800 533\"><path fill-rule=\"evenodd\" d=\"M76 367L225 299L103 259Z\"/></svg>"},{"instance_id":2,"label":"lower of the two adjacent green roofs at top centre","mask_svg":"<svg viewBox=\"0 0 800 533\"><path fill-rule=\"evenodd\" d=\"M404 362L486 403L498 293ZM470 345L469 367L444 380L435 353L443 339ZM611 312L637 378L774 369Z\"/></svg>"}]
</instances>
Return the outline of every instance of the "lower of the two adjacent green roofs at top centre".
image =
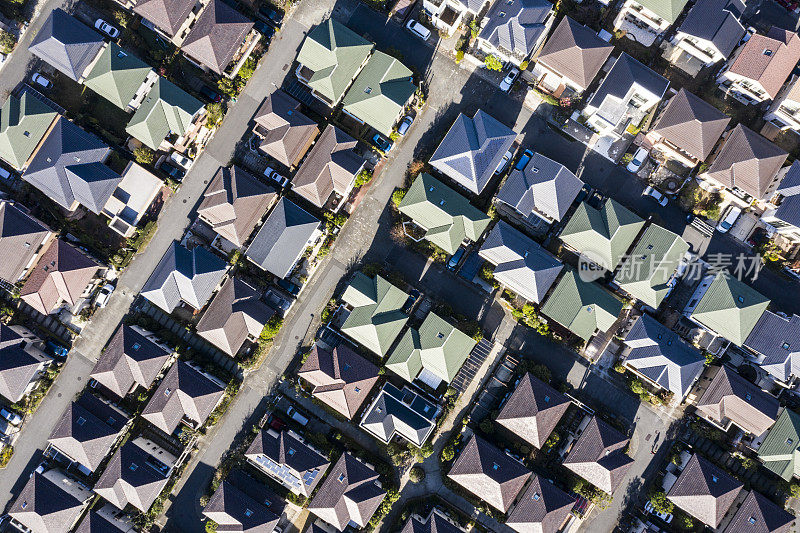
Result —
<instances>
[{"instance_id":1,"label":"lower of the two adjacent green roofs at top centre","mask_svg":"<svg viewBox=\"0 0 800 533\"><path fill-rule=\"evenodd\" d=\"M375 52L347 91L344 110L384 135L416 91L411 71L383 52Z\"/></svg>"}]
</instances>

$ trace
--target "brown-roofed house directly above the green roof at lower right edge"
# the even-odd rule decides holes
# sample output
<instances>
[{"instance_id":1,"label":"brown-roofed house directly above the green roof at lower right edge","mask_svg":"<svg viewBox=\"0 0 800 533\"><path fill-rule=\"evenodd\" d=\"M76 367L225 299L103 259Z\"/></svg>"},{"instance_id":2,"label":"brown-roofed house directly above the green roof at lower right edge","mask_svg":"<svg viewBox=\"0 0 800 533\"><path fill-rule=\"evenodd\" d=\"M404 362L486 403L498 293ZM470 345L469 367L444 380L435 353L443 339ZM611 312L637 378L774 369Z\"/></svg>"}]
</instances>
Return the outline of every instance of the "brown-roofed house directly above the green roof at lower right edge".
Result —
<instances>
[{"instance_id":1,"label":"brown-roofed house directly above the green roof at lower right edge","mask_svg":"<svg viewBox=\"0 0 800 533\"><path fill-rule=\"evenodd\" d=\"M717 368L697 402L697 415L723 431L736 425L756 437L766 433L778 418L778 399L727 366Z\"/></svg>"}]
</instances>

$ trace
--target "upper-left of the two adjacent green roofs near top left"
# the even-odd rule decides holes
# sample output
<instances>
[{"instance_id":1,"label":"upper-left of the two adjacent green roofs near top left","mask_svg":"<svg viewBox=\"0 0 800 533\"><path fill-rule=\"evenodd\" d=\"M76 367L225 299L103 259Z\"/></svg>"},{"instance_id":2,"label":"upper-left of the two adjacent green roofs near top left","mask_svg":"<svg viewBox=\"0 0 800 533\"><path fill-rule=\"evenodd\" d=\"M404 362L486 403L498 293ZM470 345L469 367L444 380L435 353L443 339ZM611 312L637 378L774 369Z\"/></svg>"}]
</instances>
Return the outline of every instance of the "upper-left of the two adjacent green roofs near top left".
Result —
<instances>
[{"instance_id":1,"label":"upper-left of the two adjacent green roofs near top left","mask_svg":"<svg viewBox=\"0 0 800 533\"><path fill-rule=\"evenodd\" d=\"M100 54L83 83L115 106L125 109L152 70L135 55L111 43Z\"/></svg>"}]
</instances>

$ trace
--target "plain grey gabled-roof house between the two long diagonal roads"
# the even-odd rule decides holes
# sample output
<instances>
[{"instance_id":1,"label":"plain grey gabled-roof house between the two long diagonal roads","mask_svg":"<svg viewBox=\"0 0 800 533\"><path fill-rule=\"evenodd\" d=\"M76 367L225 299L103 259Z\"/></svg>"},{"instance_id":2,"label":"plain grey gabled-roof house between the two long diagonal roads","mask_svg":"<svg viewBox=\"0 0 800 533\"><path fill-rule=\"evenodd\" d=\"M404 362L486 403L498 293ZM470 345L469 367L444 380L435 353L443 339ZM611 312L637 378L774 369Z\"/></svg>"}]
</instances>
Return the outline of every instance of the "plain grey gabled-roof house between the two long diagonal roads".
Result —
<instances>
[{"instance_id":1,"label":"plain grey gabled-roof house between the two long diagonal roads","mask_svg":"<svg viewBox=\"0 0 800 533\"><path fill-rule=\"evenodd\" d=\"M261 270L286 278L306 248L317 242L320 221L294 202L281 198L247 247L245 255Z\"/></svg>"}]
</instances>

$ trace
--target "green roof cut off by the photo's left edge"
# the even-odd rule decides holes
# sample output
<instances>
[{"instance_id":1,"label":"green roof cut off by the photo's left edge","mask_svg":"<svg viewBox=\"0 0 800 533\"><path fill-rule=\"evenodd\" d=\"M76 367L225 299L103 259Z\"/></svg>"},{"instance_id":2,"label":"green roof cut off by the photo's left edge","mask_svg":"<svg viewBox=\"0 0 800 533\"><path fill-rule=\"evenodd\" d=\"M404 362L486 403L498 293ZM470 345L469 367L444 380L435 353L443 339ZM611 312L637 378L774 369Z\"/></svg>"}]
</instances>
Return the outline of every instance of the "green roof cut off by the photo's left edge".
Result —
<instances>
[{"instance_id":1,"label":"green roof cut off by the photo's left edge","mask_svg":"<svg viewBox=\"0 0 800 533\"><path fill-rule=\"evenodd\" d=\"M0 158L17 170L28 161L58 113L28 93L0 108Z\"/></svg>"}]
</instances>

